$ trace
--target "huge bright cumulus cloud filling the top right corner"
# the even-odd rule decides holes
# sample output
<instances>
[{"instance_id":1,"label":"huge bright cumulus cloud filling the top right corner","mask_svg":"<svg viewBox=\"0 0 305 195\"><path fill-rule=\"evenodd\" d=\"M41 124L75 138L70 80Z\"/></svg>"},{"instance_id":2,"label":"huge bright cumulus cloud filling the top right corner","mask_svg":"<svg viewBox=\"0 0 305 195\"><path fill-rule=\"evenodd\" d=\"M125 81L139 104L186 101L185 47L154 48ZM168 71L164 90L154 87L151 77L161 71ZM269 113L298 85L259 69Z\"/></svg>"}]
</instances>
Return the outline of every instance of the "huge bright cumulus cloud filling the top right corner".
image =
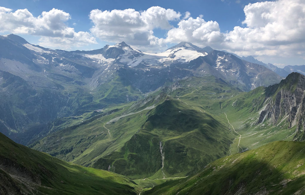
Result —
<instances>
[{"instance_id":1,"label":"huge bright cumulus cloud filling the top right corner","mask_svg":"<svg viewBox=\"0 0 305 195\"><path fill-rule=\"evenodd\" d=\"M241 55L304 55L305 3L278 0L246 5L243 24L226 33L223 47Z\"/></svg>"}]
</instances>

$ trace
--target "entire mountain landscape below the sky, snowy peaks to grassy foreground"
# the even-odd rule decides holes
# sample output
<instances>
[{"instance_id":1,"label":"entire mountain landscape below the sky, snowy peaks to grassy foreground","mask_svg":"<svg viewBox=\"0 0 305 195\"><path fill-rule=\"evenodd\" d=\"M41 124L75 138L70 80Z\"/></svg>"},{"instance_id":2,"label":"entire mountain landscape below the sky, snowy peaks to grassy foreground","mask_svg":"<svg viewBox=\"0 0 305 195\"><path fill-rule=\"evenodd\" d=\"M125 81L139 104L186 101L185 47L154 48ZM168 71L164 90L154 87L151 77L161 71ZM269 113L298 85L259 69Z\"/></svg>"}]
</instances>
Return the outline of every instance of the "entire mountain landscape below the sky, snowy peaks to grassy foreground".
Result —
<instances>
[{"instance_id":1,"label":"entire mountain landscape below the sky, snowy peaks to grassy foreground","mask_svg":"<svg viewBox=\"0 0 305 195\"><path fill-rule=\"evenodd\" d=\"M124 42L91 51L51 50L13 34L0 42L2 193L304 191L303 66L187 42L156 54ZM268 154L275 157L262 161ZM295 160L280 160L288 154ZM114 188L75 184L86 179Z\"/></svg>"}]
</instances>

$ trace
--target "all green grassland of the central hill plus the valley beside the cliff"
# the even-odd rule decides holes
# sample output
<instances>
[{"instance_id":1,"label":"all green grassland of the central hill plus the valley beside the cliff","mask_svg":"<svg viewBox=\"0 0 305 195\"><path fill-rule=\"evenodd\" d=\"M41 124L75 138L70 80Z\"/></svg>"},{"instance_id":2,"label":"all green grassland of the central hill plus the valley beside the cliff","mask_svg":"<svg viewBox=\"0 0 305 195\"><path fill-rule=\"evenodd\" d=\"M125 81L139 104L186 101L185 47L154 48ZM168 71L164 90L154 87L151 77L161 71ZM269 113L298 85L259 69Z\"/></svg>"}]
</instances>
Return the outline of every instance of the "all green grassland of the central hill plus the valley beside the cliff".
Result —
<instances>
[{"instance_id":1,"label":"all green grassland of the central hill plus the valley beside the cliff","mask_svg":"<svg viewBox=\"0 0 305 195\"><path fill-rule=\"evenodd\" d=\"M288 129L285 118L276 126L256 123L265 91L240 92L212 76L188 78L137 102L109 107L88 123L50 134L34 148L131 179L162 179L163 172L166 177L188 176L223 156L292 140L296 128Z\"/></svg>"}]
</instances>

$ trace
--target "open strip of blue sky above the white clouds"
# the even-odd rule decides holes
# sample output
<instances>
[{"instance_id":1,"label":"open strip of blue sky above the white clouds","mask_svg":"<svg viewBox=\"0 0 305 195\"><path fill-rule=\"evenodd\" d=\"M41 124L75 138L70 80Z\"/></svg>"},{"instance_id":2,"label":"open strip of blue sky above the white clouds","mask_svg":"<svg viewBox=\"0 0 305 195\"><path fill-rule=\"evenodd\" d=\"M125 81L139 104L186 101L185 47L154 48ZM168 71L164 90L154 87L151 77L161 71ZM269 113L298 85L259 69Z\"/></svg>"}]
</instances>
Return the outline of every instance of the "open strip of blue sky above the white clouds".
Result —
<instances>
[{"instance_id":1,"label":"open strip of blue sky above the white clouds","mask_svg":"<svg viewBox=\"0 0 305 195\"><path fill-rule=\"evenodd\" d=\"M63 3L64 2L64 3ZM175 11L184 13L189 11L193 17L203 15L206 21L216 20L222 31L233 30L234 26L241 25L241 21L245 19L243 8L252 0L242 2L221 1L221 0L177 0L177 1L122 1L122 0L13 0L2 1L0 6L17 9L28 9L34 16L41 15L42 11L48 11L52 8L61 9L71 14L72 19L69 23L74 22L78 25L76 30L86 31L90 25L88 17L92 9L113 10L133 8L135 10L146 10L152 6L160 6L165 9L174 9ZM226 17L224 17L226 16ZM229 16L229 17L228 17Z\"/></svg>"}]
</instances>

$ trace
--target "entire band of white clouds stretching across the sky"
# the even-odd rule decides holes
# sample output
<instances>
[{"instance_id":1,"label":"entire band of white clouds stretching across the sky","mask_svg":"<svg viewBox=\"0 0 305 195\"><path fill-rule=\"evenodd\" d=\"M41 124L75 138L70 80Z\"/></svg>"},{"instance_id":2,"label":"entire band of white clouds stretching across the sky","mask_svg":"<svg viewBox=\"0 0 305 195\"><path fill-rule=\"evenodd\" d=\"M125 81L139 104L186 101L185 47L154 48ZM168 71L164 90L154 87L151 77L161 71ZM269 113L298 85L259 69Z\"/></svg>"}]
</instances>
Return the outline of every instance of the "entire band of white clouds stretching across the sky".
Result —
<instances>
[{"instance_id":1,"label":"entire band of white clouds stretching across the sky","mask_svg":"<svg viewBox=\"0 0 305 195\"><path fill-rule=\"evenodd\" d=\"M96 43L92 33L102 41L125 41L144 51L162 51L166 44L188 41L199 47L210 45L265 61L278 56L305 58L304 0L250 3L244 7L244 12L242 26L221 32L217 21L205 21L203 15L193 18L190 12L185 12L181 19L180 12L159 6L144 11L94 9L89 14L93 23L89 33L75 32L69 27L67 21L71 16L62 10L52 9L34 17L27 9L13 12L0 7L0 31L39 35L43 46L53 48ZM178 24L173 26L172 21ZM154 35L154 30L158 29L167 31L165 38Z\"/></svg>"}]
</instances>

